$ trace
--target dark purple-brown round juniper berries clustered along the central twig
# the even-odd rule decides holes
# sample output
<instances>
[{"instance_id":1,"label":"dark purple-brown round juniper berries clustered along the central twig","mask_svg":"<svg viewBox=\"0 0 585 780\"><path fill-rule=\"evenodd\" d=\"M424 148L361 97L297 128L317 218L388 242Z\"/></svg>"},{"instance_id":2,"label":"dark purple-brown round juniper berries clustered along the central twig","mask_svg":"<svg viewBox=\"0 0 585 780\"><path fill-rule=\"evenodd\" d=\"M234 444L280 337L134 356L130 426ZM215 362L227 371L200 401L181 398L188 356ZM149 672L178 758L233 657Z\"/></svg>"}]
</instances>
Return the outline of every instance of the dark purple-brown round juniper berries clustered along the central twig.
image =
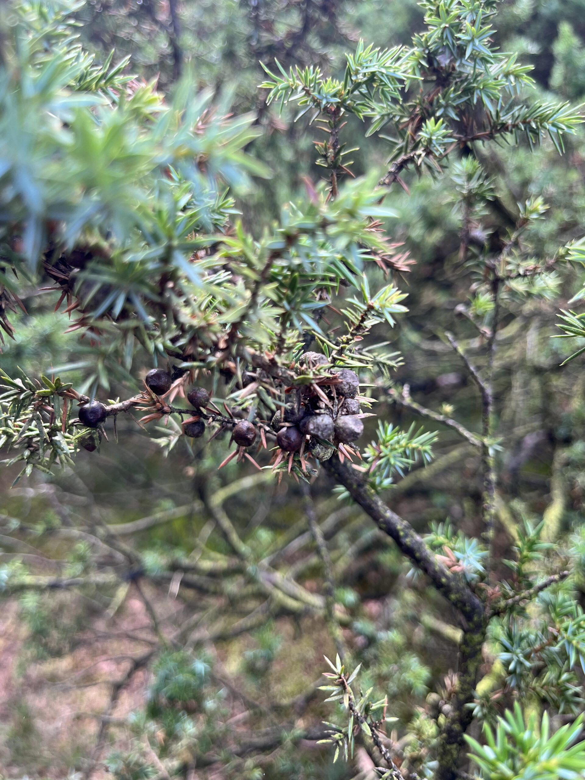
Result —
<instances>
[{"instance_id":1,"label":"dark purple-brown round juniper berries clustered along the central twig","mask_svg":"<svg viewBox=\"0 0 585 780\"><path fill-rule=\"evenodd\" d=\"M100 441L106 418L136 407L147 412L140 420L141 424L178 413L183 420L183 434L190 438L200 438L210 425L218 424L216 434L231 428L230 443L236 443L236 450L220 468L236 456L239 460L246 457L257 466L247 450L257 441L258 434L260 447L264 449L268 449L267 437L275 439L274 467L286 459L289 472L296 460L306 473L309 456L318 461L327 460L334 452L338 452L341 459L351 459L353 455L360 457L355 442L363 434L363 417L367 414L361 413L357 374L349 368L332 367L328 358L317 352L304 353L296 368L296 380L284 389L285 400L271 420L259 417L236 419L224 404L229 414L226 416L211 401L209 392L198 385L186 392L186 399L193 407L192 413L172 406L165 397L170 395L172 398L175 388L183 388L186 377L179 374L179 378L173 381L168 371L154 368L144 379L145 390L140 395L112 406L96 400L80 406L80 424L93 429L81 439L80 444L93 451ZM243 386L250 385L251 381L254 381L254 375L246 374ZM188 414L190 417L183 419Z\"/></svg>"}]
</instances>

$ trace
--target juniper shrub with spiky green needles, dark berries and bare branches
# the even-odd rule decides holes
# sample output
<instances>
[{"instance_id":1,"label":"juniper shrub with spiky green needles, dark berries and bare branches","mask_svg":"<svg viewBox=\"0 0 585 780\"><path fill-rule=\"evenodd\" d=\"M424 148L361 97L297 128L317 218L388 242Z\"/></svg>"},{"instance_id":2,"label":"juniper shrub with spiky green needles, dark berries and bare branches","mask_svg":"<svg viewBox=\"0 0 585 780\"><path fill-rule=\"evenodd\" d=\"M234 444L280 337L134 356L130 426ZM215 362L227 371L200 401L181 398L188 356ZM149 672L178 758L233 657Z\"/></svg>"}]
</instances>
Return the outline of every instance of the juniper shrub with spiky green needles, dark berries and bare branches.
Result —
<instances>
[{"instance_id":1,"label":"juniper shrub with spiky green needles, dark berries and bare branches","mask_svg":"<svg viewBox=\"0 0 585 780\"><path fill-rule=\"evenodd\" d=\"M325 5L320 12L333 16ZM485 780L576 780L585 772L576 719L585 674L585 618L576 597L583 544L576 536L562 539L556 506L541 522L527 519L522 507L512 520L502 509L505 436L502 425L498 430L495 373L502 343L516 339L530 307L558 306L585 250L583 239L566 246L559 239L552 252L543 249L544 197L533 191L511 217L499 179L488 172L498 144L522 151L544 144L562 154L582 115L569 103L534 97L530 66L495 44L496 2L420 5L423 31L410 44L382 49L359 41L339 72L324 63L283 66L268 47L261 108L243 114L232 111L229 90L228 97L198 91L188 74L162 94L155 80L133 75L127 57L112 52L100 64L80 37L81 2L20 0L0 9L2 343L33 328L35 317L51 316L47 309L60 313L62 328L73 334L57 365L49 360L36 373L25 366L0 374L0 448L5 464L17 466L15 482L35 469L75 469L81 449L99 450L108 433L118 438L124 417L156 431L170 458L179 444L202 439L211 454L197 456L207 458L207 474L233 459L262 472L215 491L200 478L197 507L209 523L188 552L120 541L183 516L172 507L118 528L94 518L79 537L59 519L44 522L27 532L69 530L76 540L58 576L35 573L35 555L23 542L23 558L0 569L6 594L35 594L25 595L20 609L49 654L58 654L65 640L53 636L48 619L37 619L44 609L37 594L90 588L114 615L129 588L137 589L155 639L144 656L131 659L128 674L151 665L152 679L146 706L128 722L136 750L108 758L117 778L193 776L219 765L226 778L255 780L264 764L248 765L243 757L282 748L282 773L301 776L295 750L305 739L332 743L334 763L353 761L359 743L371 756L368 776L393 780L468 778L475 776L468 772L476 771L472 764ZM169 2L169 12L166 31L179 76L176 3ZM266 22L263 13L257 9L254 18ZM160 22L155 12L151 20ZM568 36L564 29L557 44L557 80L569 67ZM285 47L287 56L291 48ZM320 133L314 148L323 179L315 184L305 177L296 197L278 204L277 220L250 227L246 193L279 175L254 155L271 105L283 113L289 105L298 109L303 136ZM355 127L357 148L348 140ZM384 163L368 164L367 174L356 178L353 154L370 149L374 160L382 151ZM456 269L466 302L454 314L456 324L473 329L473 339L462 346L449 330L439 335L443 354L453 353L480 399L480 413L466 424L450 399L438 411L427 408L394 374L402 355L392 341L410 316L405 278L413 261L388 233L390 225L400 229L401 218L388 193L401 187L416 211L417 177L449 189L441 205L456 224ZM504 229L496 227L496 213L506 216ZM50 303L37 306L39 296ZM562 337L585 338L583 314L563 310L561 328ZM431 349L423 339L411 346ZM122 398L108 398L118 392ZM388 405L424 418L425 427L381 419L373 441L360 444L364 424ZM420 518L408 522L381 498L385 491L406 493L407 480L419 478L417 467L436 465L441 437L435 427L477 454L477 533L442 514L424 534ZM558 476L562 465L555 468ZM376 526L371 534L377 535L355 538L351 546L344 537L348 549L335 561L310 498L320 473ZM264 488L268 480L288 480L293 489L293 480L300 484L314 560L283 569L282 559L306 540L275 538L261 527L261 509L261 519L243 529L225 510L230 495ZM551 494L554 503L555 485ZM337 519L328 522L327 531ZM508 558L495 544L498 523L505 522L512 537ZM220 541L207 544L215 530ZM385 633L353 614L351 587L335 587L346 558L381 544L381 537L396 545L385 561L403 601L395 629ZM309 579L315 562L322 593ZM186 618L171 633L145 583L173 597L180 588L193 590L205 614ZM420 607L427 602L441 619ZM229 609L236 617L221 622ZM406 623L421 609L420 625L426 619L425 627L458 654L456 672L434 691L428 690L430 661L407 650L399 631L401 619ZM265 694L283 646L283 615L322 620L338 652L335 663L328 661L329 685L321 686L332 705L324 725L293 717L306 711L314 690L293 701L259 703L237 688L234 693L220 659L197 650L246 634L250 646L240 654L238 674ZM451 622L443 622L445 615ZM211 619L219 622L211 626ZM353 664L360 653L363 667ZM122 686L113 686L89 773ZM270 725L240 739L240 715L230 717L229 696L245 704L243 720L253 713ZM406 704L404 697L410 697ZM538 712L525 714L530 708ZM281 726L283 711L289 718ZM571 722L561 726L563 717ZM484 729L481 741L466 733L473 726L477 737L476 724Z\"/></svg>"}]
</instances>

